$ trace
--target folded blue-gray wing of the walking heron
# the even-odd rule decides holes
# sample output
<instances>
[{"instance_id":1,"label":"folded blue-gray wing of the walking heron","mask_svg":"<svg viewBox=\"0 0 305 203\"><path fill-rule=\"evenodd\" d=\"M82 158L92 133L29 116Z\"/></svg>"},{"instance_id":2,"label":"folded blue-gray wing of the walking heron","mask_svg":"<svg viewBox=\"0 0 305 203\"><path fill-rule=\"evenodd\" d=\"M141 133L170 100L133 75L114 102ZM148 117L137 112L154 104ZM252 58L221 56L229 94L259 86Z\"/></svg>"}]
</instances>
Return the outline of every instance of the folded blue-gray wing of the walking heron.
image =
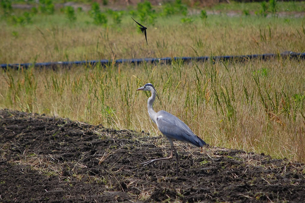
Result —
<instances>
[{"instance_id":1,"label":"folded blue-gray wing of the walking heron","mask_svg":"<svg viewBox=\"0 0 305 203\"><path fill-rule=\"evenodd\" d=\"M191 143L197 147L202 147L206 143L196 136L192 130L179 118L166 111L157 113L156 124L158 129L167 137Z\"/></svg>"}]
</instances>

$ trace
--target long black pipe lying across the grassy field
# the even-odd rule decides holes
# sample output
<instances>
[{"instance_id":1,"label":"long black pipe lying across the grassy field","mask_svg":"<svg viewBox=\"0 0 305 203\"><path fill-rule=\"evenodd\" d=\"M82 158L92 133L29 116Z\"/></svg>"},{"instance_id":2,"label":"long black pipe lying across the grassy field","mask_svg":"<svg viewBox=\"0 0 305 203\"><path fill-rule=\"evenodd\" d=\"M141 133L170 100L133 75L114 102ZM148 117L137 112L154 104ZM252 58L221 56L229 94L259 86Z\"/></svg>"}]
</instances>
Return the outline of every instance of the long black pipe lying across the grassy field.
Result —
<instances>
[{"instance_id":1,"label":"long black pipe lying across the grassy field","mask_svg":"<svg viewBox=\"0 0 305 203\"><path fill-rule=\"evenodd\" d=\"M254 55L242 55L242 56L213 56L213 61L218 60L251 60L251 59L261 59L265 60L271 57L275 57L277 54L254 54ZM285 51L280 54L282 57L289 57L289 58L297 58L297 59L305 59L305 53L296 53L291 51ZM118 63L134 63L134 64L140 64L143 62L146 63L157 63L157 62L163 62L163 63L171 63L172 60L182 60L183 62L190 62L190 61L207 61L210 60L209 56L200 56L200 57L164 57L164 58L144 58L144 59L118 59L115 60L115 64ZM91 66L95 65L96 63L100 63L102 66L106 66L107 64L111 64L112 60L89 60L89 61L65 61L65 62L46 62L46 63L15 63L15 64L1 64L0 66L3 69L6 68L28 68L28 67L58 67L58 66L72 66L72 65L83 65L83 64L90 64Z\"/></svg>"}]
</instances>

